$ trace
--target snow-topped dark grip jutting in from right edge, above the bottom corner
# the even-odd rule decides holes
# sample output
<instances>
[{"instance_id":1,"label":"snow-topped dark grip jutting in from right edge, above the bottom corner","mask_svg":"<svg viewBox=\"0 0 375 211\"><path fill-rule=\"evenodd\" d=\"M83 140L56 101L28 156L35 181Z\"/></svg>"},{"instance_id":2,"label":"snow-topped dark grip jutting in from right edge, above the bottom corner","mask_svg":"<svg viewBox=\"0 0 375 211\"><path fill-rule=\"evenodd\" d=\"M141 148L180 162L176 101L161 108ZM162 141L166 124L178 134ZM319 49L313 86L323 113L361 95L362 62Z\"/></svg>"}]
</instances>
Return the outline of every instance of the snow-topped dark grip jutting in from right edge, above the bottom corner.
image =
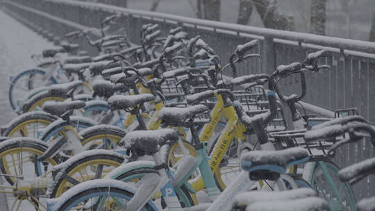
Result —
<instances>
[{"instance_id":1,"label":"snow-topped dark grip jutting in from right edge, above the bottom corner","mask_svg":"<svg viewBox=\"0 0 375 211\"><path fill-rule=\"evenodd\" d=\"M362 178L369 174L375 173L375 158L369 158L356 164L352 164L349 167L345 167L338 172L340 180L345 182L355 179Z\"/></svg>"}]
</instances>

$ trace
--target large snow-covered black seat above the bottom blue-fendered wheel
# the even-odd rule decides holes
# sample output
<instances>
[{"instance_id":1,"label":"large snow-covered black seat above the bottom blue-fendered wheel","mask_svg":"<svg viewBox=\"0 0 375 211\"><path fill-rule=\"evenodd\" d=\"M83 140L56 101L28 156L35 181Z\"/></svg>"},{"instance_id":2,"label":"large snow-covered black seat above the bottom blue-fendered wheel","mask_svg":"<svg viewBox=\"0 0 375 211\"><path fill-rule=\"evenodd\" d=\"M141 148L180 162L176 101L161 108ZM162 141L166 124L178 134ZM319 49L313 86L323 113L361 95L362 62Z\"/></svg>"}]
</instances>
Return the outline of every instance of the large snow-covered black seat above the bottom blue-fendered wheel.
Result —
<instances>
[{"instance_id":1,"label":"large snow-covered black seat above the bottom blue-fendered wheel","mask_svg":"<svg viewBox=\"0 0 375 211\"><path fill-rule=\"evenodd\" d=\"M175 130L166 128L161 130L137 130L127 133L121 140L126 149L131 149L137 155L153 155L160 146L173 144L178 140Z\"/></svg>"}]
</instances>

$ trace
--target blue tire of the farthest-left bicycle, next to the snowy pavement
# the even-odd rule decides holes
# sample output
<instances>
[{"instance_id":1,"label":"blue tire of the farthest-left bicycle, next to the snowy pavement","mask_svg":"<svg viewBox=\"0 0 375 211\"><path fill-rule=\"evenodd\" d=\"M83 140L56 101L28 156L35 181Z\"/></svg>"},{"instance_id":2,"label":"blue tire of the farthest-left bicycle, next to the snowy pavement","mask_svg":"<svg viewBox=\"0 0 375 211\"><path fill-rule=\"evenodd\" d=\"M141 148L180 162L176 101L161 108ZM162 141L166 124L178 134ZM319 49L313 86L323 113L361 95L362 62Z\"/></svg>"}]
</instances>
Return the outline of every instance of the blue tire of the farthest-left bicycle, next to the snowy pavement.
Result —
<instances>
[{"instance_id":1,"label":"blue tire of the farthest-left bicycle, next to the snowy pavement","mask_svg":"<svg viewBox=\"0 0 375 211\"><path fill-rule=\"evenodd\" d=\"M21 78L25 77L25 76L28 76L30 77L30 75L32 74L40 74L42 76L44 76L46 74L46 72L42 69L28 69L28 70L25 70L25 71L22 71L22 73L20 74L17 74L17 76L15 76L14 78L12 78L12 80L10 81L10 87L9 87L9 90L8 90L8 99L9 99L9 103L10 103L10 106L12 107L13 110L16 109L16 100L15 99L16 97L14 96L14 91L15 91L15 87L17 82L20 81ZM51 84L56 84L57 81L55 78L50 78L50 82ZM30 85L28 84L28 90L30 90Z\"/></svg>"}]
</instances>

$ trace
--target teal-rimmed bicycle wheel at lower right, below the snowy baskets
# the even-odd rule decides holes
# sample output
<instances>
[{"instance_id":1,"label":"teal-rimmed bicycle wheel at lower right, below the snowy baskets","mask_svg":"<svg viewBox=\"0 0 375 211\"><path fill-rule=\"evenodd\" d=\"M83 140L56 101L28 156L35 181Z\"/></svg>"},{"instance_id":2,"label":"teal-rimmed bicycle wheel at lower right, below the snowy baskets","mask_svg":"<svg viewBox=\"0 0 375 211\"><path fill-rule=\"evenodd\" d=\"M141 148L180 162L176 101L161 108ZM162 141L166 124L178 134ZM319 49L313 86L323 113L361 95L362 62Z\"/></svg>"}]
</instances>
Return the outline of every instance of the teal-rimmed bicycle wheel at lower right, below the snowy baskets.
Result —
<instances>
[{"instance_id":1,"label":"teal-rimmed bicycle wheel at lower right, below the snowy baskets","mask_svg":"<svg viewBox=\"0 0 375 211\"><path fill-rule=\"evenodd\" d=\"M342 183L338 177L338 171L340 170L340 168L334 162L331 162L331 161L324 161L324 163L326 164L327 170L330 171L329 173L331 177L339 184L341 183L341 185L344 185L344 192L345 192L344 199L346 200L342 200L342 201L343 202L347 201L346 204L349 206L350 210L356 210L356 198L353 194L353 190L351 189L351 185L349 185L349 183ZM331 210L342 210L342 205L338 205L339 208L336 208L337 206L335 205L336 200L330 199L330 197L334 195L334 193L329 194L328 192L331 190L331 188L324 188L325 177L323 178L320 177L324 175L322 171L323 171L322 167L319 164L315 164L315 167L313 169L313 174L311 175L310 180L309 180L311 186L313 187L313 189L315 189L315 191L318 193L319 196L323 196L325 199L328 200ZM320 183L320 185L318 185L318 183ZM336 185L336 187L338 187L338 185ZM326 196L326 194L328 194L329 196ZM342 196L340 197L342 198ZM344 210L348 210L348 209L344 209Z\"/></svg>"}]
</instances>

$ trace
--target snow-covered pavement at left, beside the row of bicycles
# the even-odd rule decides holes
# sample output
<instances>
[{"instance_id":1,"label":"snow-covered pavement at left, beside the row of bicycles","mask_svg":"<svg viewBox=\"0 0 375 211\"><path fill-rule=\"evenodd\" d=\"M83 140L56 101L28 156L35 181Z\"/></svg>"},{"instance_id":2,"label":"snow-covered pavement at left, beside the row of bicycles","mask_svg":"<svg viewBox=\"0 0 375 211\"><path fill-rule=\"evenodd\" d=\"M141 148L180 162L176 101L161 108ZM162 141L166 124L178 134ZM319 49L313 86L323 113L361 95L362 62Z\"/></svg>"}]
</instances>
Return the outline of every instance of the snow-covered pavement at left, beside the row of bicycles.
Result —
<instances>
[{"instance_id":1,"label":"snow-covered pavement at left, beside the row of bicycles","mask_svg":"<svg viewBox=\"0 0 375 211\"><path fill-rule=\"evenodd\" d=\"M0 27L0 125L4 125L16 116L8 101L9 77L35 67L30 56L53 44L1 10Z\"/></svg>"}]
</instances>

